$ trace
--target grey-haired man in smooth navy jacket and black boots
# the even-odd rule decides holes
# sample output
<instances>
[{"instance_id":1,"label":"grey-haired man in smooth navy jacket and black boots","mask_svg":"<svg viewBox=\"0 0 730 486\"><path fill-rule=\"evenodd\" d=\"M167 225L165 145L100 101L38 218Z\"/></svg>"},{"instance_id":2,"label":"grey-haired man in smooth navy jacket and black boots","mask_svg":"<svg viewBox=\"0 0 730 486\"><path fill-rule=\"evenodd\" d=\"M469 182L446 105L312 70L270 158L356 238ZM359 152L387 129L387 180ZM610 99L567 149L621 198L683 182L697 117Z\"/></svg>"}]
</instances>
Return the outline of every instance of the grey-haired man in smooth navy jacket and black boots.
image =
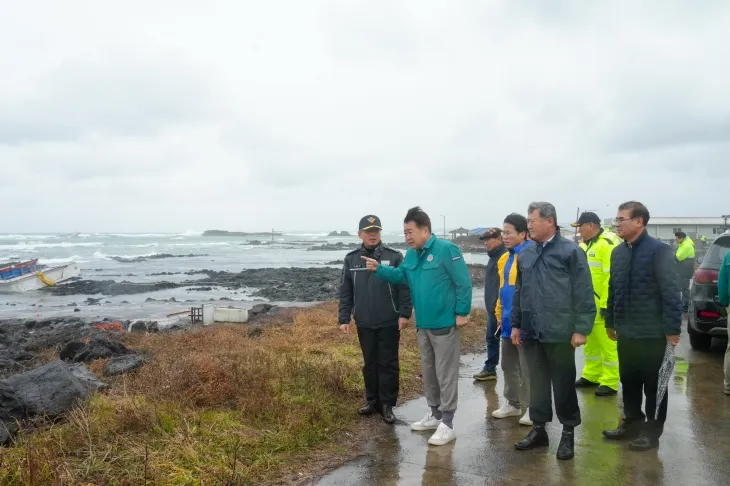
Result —
<instances>
[{"instance_id":1,"label":"grey-haired man in smooth navy jacket and black boots","mask_svg":"<svg viewBox=\"0 0 730 486\"><path fill-rule=\"evenodd\" d=\"M586 253L560 236L555 206L534 202L527 227L535 242L517 260L512 299L512 344L523 346L530 374L532 430L517 450L549 445L545 424L555 412L563 424L557 457L574 456L574 429L581 423L575 391L575 348L586 343L596 319L596 301ZM503 357L504 361L504 357Z\"/></svg>"}]
</instances>

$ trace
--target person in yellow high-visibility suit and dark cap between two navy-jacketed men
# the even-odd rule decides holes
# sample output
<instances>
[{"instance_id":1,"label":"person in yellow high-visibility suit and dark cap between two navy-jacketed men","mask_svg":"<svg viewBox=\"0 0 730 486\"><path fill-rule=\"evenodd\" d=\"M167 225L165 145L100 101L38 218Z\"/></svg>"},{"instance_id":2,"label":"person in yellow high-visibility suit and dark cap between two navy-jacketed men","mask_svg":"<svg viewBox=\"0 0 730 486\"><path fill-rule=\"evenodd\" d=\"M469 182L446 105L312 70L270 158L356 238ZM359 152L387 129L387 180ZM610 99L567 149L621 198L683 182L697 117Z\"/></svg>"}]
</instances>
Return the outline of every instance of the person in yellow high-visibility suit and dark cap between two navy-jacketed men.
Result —
<instances>
[{"instance_id":1,"label":"person in yellow high-visibility suit and dark cap between two navy-jacketed men","mask_svg":"<svg viewBox=\"0 0 730 486\"><path fill-rule=\"evenodd\" d=\"M611 253L620 244L618 236L601 228L601 219L595 213L583 213L573 223L578 228L582 242L580 247L586 252L591 268L593 294L596 299L596 320L593 331L585 345L585 366L583 374L575 382L576 388L596 388L596 395L606 397L618 392L619 369L616 342L606 333L606 306L608 301L608 281L611 275Z\"/></svg>"}]
</instances>

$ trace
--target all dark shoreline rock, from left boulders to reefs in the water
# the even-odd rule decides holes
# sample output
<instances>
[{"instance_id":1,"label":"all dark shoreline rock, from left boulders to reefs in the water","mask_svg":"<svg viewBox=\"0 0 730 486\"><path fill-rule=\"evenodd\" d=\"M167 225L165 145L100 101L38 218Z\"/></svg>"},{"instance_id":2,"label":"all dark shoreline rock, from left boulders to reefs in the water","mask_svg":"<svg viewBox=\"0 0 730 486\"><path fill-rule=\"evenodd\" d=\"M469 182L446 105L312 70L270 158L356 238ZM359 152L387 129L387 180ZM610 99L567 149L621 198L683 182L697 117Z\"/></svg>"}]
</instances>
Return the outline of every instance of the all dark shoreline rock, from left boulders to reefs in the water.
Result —
<instances>
[{"instance_id":1,"label":"all dark shoreline rock, from left boulders to reefs in the water","mask_svg":"<svg viewBox=\"0 0 730 486\"><path fill-rule=\"evenodd\" d=\"M241 272L192 270L189 276L204 275L202 279L184 282L152 283L116 282L114 280L77 280L50 287L44 292L56 296L139 294L157 290L212 291L226 288L248 293L271 301L318 302L337 299L341 268L340 261L332 266L311 268L261 268ZM475 287L484 283L483 265L469 265ZM180 296L178 296L178 299ZM104 297L78 300L87 306L100 305ZM154 300L152 298L148 300ZM211 299L212 300L212 299ZM222 298L220 300L230 300ZM168 302L179 302L172 297ZM111 303L106 301L107 304ZM123 302L124 303L124 302ZM77 302L68 304L78 312ZM269 303L259 303L250 310L250 332L260 332L259 326L277 318L281 312L292 312ZM126 332L172 332L192 324L182 318L179 324L149 320L91 320L80 317L0 320L0 444L7 443L17 433L18 423L35 417L53 417L67 410L79 399L107 387L81 363L107 360L101 376L107 378L134 372L144 366L145 357L128 350L123 344ZM39 399L27 390L42 390Z\"/></svg>"}]
</instances>

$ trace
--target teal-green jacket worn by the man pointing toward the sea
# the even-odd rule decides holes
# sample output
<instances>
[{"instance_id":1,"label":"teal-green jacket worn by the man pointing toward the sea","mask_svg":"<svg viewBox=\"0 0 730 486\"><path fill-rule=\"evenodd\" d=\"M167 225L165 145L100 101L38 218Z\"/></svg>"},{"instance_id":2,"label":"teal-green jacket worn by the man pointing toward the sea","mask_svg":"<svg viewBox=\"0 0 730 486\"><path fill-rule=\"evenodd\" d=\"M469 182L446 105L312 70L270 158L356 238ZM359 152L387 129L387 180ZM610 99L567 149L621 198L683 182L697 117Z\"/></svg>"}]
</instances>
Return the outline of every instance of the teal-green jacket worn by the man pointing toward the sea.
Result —
<instances>
[{"instance_id":1,"label":"teal-green jacket worn by the man pointing toward the sea","mask_svg":"<svg viewBox=\"0 0 730 486\"><path fill-rule=\"evenodd\" d=\"M421 250L409 249L397 268L379 265L375 275L392 284L408 283L418 328L451 327L456 316L471 312L471 276L464 256L436 235Z\"/></svg>"}]
</instances>

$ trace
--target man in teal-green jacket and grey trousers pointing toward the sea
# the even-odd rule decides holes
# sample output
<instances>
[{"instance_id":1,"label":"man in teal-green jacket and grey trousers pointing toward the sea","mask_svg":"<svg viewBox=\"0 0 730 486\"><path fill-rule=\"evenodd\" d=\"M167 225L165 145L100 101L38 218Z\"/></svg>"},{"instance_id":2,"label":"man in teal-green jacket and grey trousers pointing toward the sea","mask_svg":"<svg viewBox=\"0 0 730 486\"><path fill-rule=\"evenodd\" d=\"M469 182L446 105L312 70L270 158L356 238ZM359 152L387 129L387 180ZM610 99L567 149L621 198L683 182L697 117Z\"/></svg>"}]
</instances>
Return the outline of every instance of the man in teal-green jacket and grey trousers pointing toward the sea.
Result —
<instances>
[{"instance_id":1,"label":"man in teal-green jacket and grey trousers pointing toward the sea","mask_svg":"<svg viewBox=\"0 0 730 486\"><path fill-rule=\"evenodd\" d=\"M413 430L436 430L431 445L456 439L454 413L459 394L459 328L471 312L471 276L453 243L431 233L431 219L418 206L403 221L410 249L397 268L363 257L367 269L392 284L408 283L416 314L426 401L431 410L411 424Z\"/></svg>"}]
</instances>

